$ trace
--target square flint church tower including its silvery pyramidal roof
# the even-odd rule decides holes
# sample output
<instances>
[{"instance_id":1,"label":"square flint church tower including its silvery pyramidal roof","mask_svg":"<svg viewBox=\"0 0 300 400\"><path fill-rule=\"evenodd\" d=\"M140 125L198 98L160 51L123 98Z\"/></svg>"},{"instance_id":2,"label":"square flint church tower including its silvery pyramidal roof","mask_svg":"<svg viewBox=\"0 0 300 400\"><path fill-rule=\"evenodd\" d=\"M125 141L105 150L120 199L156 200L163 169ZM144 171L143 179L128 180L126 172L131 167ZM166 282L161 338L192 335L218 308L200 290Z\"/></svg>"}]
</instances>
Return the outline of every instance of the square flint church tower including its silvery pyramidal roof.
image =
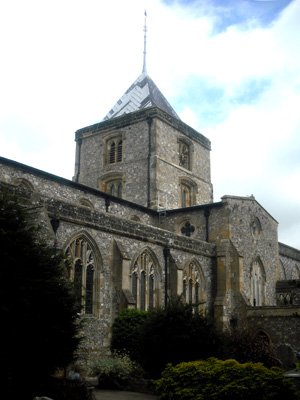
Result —
<instances>
[{"instance_id":1,"label":"square flint church tower including its silvery pyramidal roof","mask_svg":"<svg viewBox=\"0 0 300 400\"><path fill-rule=\"evenodd\" d=\"M143 72L104 120L76 132L74 180L152 209L213 201L210 141Z\"/></svg>"}]
</instances>

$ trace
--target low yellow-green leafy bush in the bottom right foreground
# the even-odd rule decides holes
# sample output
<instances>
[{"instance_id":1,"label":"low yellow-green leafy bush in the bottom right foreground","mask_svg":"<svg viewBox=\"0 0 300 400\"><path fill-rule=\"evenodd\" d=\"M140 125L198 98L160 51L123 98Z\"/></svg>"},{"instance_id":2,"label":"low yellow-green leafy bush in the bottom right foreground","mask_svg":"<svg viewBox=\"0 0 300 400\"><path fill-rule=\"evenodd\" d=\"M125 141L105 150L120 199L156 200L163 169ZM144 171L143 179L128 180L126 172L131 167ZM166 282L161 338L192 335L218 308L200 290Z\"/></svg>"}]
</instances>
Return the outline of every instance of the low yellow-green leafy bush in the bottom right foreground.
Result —
<instances>
[{"instance_id":1,"label":"low yellow-green leafy bush in the bottom right foreground","mask_svg":"<svg viewBox=\"0 0 300 400\"><path fill-rule=\"evenodd\" d=\"M291 382L277 367L235 360L169 365L157 381L160 400L296 400Z\"/></svg>"}]
</instances>

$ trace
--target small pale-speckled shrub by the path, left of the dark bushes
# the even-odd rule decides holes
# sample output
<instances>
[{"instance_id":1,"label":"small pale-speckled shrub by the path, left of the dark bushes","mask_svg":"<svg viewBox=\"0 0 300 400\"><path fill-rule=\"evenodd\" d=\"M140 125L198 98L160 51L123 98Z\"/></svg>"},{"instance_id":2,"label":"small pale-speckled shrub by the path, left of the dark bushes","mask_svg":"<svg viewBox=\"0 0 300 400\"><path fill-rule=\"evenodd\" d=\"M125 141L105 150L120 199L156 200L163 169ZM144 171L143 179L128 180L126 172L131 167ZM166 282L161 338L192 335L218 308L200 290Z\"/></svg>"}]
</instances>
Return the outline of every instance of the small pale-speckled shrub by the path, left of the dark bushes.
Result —
<instances>
[{"instance_id":1,"label":"small pale-speckled shrub by the path, left of the dark bushes","mask_svg":"<svg viewBox=\"0 0 300 400\"><path fill-rule=\"evenodd\" d=\"M127 354L115 352L111 357L95 361L90 373L98 377L98 386L102 389L120 389L126 387L130 378L140 377L142 369Z\"/></svg>"}]
</instances>

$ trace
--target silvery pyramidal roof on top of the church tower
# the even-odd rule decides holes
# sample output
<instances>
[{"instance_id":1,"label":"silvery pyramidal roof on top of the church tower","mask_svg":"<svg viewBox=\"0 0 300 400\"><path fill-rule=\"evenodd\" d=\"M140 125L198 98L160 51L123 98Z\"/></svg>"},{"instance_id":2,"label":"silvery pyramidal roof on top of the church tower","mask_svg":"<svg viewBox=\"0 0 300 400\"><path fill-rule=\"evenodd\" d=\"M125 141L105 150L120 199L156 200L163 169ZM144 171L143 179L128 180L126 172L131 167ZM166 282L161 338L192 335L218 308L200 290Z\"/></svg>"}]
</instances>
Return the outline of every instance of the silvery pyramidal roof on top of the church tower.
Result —
<instances>
[{"instance_id":1,"label":"silvery pyramidal roof on top of the church tower","mask_svg":"<svg viewBox=\"0 0 300 400\"><path fill-rule=\"evenodd\" d=\"M152 106L157 106L173 117L180 119L150 76L143 72L103 120Z\"/></svg>"}]
</instances>

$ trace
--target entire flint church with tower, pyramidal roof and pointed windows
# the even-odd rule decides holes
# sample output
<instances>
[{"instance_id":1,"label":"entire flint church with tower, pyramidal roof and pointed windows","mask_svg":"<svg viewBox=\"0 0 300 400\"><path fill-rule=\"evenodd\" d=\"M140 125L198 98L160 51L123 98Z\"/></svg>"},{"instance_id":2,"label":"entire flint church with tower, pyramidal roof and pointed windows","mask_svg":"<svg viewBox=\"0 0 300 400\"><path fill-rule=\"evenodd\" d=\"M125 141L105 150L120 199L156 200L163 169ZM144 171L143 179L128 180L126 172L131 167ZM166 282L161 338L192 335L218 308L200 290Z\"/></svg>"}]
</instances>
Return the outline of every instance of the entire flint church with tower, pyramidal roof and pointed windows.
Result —
<instances>
[{"instance_id":1,"label":"entire flint church with tower, pyramidal roof and pointed windows","mask_svg":"<svg viewBox=\"0 0 300 400\"><path fill-rule=\"evenodd\" d=\"M85 362L109 349L122 309L151 310L178 294L220 329L254 329L297 360L300 251L278 242L278 222L255 197L214 202L211 143L178 117L145 63L75 141L72 180L0 157L0 187L30 204L66 256Z\"/></svg>"}]
</instances>

